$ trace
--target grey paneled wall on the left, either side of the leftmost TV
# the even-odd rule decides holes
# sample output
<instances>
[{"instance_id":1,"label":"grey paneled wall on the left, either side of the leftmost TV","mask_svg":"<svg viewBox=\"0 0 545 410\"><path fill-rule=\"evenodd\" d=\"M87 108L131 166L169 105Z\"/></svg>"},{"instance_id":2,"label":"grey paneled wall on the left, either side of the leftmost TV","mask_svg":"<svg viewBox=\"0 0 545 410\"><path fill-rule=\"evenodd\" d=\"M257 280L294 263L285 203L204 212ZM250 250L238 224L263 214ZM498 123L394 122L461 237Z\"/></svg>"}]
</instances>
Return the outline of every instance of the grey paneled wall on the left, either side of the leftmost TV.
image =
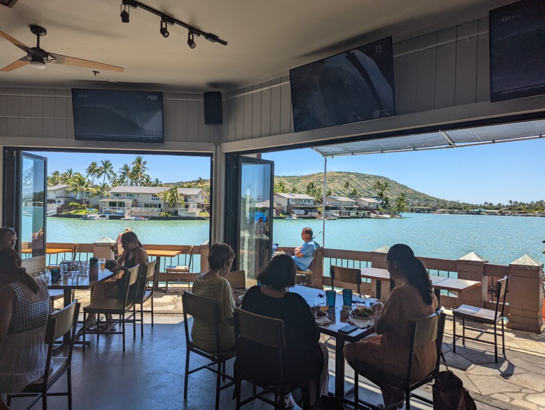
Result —
<instances>
[{"instance_id":1,"label":"grey paneled wall on the left, either side of the leftmost TV","mask_svg":"<svg viewBox=\"0 0 545 410\"><path fill-rule=\"evenodd\" d=\"M164 99L166 142L218 143L220 127L204 125L201 94ZM0 88L0 138L74 139L70 89Z\"/></svg>"}]
</instances>

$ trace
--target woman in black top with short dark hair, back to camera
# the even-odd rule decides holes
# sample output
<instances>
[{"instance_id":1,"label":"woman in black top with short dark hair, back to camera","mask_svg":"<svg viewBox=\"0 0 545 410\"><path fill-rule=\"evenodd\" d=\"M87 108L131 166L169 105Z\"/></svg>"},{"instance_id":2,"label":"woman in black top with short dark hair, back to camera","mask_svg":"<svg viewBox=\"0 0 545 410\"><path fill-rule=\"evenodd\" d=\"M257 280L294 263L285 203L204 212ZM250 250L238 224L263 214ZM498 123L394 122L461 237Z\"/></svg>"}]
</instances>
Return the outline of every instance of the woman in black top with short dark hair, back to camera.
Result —
<instances>
[{"instance_id":1,"label":"woman in black top with short dark hair, back to camera","mask_svg":"<svg viewBox=\"0 0 545 410\"><path fill-rule=\"evenodd\" d=\"M319 343L320 333L316 320L305 299L289 292L295 285L297 267L290 255L278 255L259 273L261 286L251 287L244 296L241 308L262 316L275 317L284 322L286 346L282 352L284 384L290 387L304 387L311 381L311 404L318 397L328 394L328 350ZM245 363L255 363L253 375L267 371L274 363L274 356L268 348L241 339L239 356ZM300 391L295 400L302 406ZM284 397L284 406L292 407L289 395Z\"/></svg>"}]
</instances>

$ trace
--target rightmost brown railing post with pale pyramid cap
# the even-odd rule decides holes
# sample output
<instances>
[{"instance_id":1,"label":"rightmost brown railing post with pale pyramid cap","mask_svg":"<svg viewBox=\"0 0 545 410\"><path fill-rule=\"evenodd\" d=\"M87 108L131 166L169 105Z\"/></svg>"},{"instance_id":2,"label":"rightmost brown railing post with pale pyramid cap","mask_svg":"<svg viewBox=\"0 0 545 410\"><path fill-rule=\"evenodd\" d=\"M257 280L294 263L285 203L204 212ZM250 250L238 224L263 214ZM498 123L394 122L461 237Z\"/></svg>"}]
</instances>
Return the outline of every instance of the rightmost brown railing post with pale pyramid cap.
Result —
<instances>
[{"instance_id":1,"label":"rightmost brown railing post with pale pyramid cap","mask_svg":"<svg viewBox=\"0 0 545 410\"><path fill-rule=\"evenodd\" d=\"M507 327L543 332L543 264L524 255L509 264Z\"/></svg>"}]
</instances>

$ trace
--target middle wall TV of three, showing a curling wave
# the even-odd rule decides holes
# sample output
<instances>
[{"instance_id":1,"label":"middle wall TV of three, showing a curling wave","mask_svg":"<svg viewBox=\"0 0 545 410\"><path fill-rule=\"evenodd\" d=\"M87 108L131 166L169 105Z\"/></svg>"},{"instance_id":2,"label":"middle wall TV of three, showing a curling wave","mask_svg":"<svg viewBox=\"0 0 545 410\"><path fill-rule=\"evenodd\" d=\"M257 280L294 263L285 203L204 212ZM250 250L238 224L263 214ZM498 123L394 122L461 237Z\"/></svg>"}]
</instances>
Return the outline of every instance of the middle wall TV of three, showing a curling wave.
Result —
<instances>
[{"instance_id":1,"label":"middle wall TV of three, showing a curling wave","mask_svg":"<svg viewBox=\"0 0 545 410\"><path fill-rule=\"evenodd\" d=\"M295 132L395 115L392 38L289 70Z\"/></svg>"}]
</instances>

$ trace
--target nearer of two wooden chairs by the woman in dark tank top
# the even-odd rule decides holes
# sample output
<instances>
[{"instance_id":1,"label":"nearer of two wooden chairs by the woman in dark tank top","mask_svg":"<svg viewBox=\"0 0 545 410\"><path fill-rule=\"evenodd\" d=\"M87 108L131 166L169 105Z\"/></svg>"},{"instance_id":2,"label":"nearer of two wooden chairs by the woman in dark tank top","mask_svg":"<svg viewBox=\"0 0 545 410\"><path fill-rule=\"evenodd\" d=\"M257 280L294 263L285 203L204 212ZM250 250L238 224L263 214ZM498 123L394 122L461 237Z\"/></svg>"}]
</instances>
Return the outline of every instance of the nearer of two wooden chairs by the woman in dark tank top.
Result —
<instances>
[{"instance_id":1,"label":"nearer of two wooden chairs by the woman in dark tank top","mask_svg":"<svg viewBox=\"0 0 545 410\"><path fill-rule=\"evenodd\" d=\"M97 299L83 308L83 351L85 350L85 338L87 334L96 334L97 344L100 334L121 334L123 335L123 351L125 351L125 323L132 323L132 325L134 325L132 328L132 337L136 338L136 304L134 299L129 298L129 289L131 285L138 283L138 270L140 270L140 265L130 268L129 272L125 274L126 292L124 292L124 295L120 295L119 297ZM126 316L131 309L132 312L129 314L129 316ZM97 315L96 330L87 331L85 326L87 315L93 313L96 313ZM100 331L101 314L106 316L105 323L107 329L104 332ZM108 315L119 315L119 319L108 319ZM113 331L111 328L119 322L121 322L121 331Z\"/></svg>"}]
</instances>

